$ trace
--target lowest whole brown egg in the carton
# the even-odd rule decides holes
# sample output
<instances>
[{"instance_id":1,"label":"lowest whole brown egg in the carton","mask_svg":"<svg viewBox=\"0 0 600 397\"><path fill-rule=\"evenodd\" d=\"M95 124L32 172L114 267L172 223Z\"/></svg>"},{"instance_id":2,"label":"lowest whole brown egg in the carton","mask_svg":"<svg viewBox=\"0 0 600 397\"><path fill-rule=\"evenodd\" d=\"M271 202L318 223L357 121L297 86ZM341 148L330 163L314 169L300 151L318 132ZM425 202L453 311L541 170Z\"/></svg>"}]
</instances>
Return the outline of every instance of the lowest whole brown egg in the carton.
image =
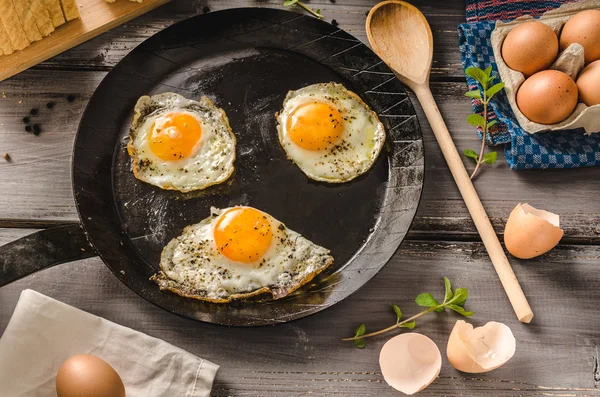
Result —
<instances>
[{"instance_id":1,"label":"lowest whole brown egg in the carton","mask_svg":"<svg viewBox=\"0 0 600 397\"><path fill-rule=\"evenodd\" d=\"M556 124L573 113L577 97L577 85L568 74L544 70L521 84L517 91L517 106L533 122Z\"/></svg>"}]
</instances>

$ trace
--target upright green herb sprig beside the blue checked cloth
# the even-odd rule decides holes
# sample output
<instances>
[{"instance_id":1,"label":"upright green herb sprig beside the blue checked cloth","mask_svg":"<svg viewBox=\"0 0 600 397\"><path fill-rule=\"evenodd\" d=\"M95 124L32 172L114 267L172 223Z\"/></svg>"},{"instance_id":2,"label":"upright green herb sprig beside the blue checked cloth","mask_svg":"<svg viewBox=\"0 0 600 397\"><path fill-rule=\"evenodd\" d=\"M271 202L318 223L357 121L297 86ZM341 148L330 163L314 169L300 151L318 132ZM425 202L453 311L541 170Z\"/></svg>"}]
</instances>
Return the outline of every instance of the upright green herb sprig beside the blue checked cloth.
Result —
<instances>
[{"instance_id":1,"label":"upright green herb sprig beside the blue checked cloth","mask_svg":"<svg viewBox=\"0 0 600 397\"><path fill-rule=\"evenodd\" d=\"M465 70L465 73L467 76L477 80L477 83L479 83L480 87L480 89L467 92L465 96L472 99L478 99L483 104L483 116L478 113L474 113L467 117L467 123L474 127L481 128L482 131L481 150L479 151L479 154L472 149L465 149L463 152L465 156L472 158L477 163L473 173L471 174L471 179L473 179L479 170L479 166L481 166L483 163L494 164L496 162L496 158L498 157L497 152L485 153L485 140L490 127L498 122L497 120L488 121L488 106L492 97L504 88L504 83L500 82L492 85L496 79L496 76L492 76L491 66L488 66L485 70L481 70L477 67L470 67Z\"/></svg>"}]
</instances>

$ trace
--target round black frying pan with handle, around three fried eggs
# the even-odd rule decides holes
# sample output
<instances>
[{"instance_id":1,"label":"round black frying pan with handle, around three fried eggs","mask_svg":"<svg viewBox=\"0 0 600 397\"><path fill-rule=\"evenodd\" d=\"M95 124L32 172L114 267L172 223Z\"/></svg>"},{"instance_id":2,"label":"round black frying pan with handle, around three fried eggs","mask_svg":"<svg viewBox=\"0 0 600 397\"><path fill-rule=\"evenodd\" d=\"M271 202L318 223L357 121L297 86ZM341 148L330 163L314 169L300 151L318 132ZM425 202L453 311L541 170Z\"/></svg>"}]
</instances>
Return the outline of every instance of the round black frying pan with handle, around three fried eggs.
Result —
<instances>
[{"instance_id":1,"label":"round black frying pan with handle, around three fried eggs","mask_svg":"<svg viewBox=\"0 0 600 397\"><path fill-rule=\"evenodd\" d=\"M286 159L274 113L288 90L336 81L359 94L387 130L386 149L364 176L316 183ZM142 95L207 95L237 136L235 173L199 192L138 181L126 153ZM192 319L266 325L316 313L344 299L390 259L412 222L423 184L423 144L414 109L390 69L334 26L292 12L232 9L175 24L111 71L83 115L73 152L81 225L47 229L0 248L0 285L37 270L99 255L144 299ZM251 205L327 247L334 265L291 296L229 305L161 292L151 281L162 247L209 208Z\"/></svg>"}]
</instances>

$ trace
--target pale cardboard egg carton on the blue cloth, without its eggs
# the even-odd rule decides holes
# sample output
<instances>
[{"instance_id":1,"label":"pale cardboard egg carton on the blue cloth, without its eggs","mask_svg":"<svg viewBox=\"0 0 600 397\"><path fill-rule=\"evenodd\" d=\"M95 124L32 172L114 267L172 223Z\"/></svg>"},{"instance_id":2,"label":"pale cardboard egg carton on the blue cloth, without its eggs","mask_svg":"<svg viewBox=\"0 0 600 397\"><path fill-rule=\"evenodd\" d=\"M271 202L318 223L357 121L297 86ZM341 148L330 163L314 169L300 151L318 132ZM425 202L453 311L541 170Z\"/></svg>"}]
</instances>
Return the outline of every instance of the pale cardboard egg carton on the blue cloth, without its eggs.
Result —
<instances>
[{"instance_id":1,"label":"pale cardboard egg carton on the blue cloth, without its eggs","mask_svg":"<svg viewBox=\"0 0 600 397\"><path fill-rule=\"evenodd\" d=\"M505 84L505 91L508 97L508 102L510 103L510 107L515 113L517 121L525 131L535 134L543 131L583 128L588 134L591 134L592 132L600 132L600 105L587 106L584 103L578 103L573 113L571 113L566 120L557 124L540 124L529 120L519 110L516 100L517 91L521 84L523 84L525 81L525 76L521 72L510 69L502 59L502 43L504 42L504 39L508 33L518 25L524 22L537 20L550 26L558 36L562 26L569 20L569 18L580 11L590 9L600 9L600 0L583 0L576 3L564 4L557 9L544 13L537 19L534 19L529 15L525 15L510 22L496 22L496 27L491 36L494 58L496 59L500 78ZM573 80L576 80L577 75L583 69L583 66L583 47L577 43L573 43L559 55L557 60L552 64L552 66L550 66L550 69L565 72L571 76Z\"/></svg>"}]
</instances>

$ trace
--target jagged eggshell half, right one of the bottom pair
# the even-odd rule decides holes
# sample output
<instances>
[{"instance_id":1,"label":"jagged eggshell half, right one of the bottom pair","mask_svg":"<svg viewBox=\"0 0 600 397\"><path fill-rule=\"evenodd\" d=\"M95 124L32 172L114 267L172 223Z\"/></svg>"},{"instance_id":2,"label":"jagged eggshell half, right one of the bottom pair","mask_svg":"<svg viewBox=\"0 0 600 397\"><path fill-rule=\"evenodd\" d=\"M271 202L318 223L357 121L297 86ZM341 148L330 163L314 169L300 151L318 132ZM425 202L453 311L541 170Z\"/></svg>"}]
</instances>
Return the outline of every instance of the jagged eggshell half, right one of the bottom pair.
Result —
<instances>
[{"instance_id":1,"label":"jagged eggshell half, right one of the bottom pair","mask_svg":"<svg viewBox=\"0 0 600 397\"><path fill-rule=\"evenodd\" d=\"M452 329L446 355L457 370L470 374L492 371L506 364L516 351L516 340L508 326L490 321L473 328L458 320Z\"/></svg>"}]
</instances>

